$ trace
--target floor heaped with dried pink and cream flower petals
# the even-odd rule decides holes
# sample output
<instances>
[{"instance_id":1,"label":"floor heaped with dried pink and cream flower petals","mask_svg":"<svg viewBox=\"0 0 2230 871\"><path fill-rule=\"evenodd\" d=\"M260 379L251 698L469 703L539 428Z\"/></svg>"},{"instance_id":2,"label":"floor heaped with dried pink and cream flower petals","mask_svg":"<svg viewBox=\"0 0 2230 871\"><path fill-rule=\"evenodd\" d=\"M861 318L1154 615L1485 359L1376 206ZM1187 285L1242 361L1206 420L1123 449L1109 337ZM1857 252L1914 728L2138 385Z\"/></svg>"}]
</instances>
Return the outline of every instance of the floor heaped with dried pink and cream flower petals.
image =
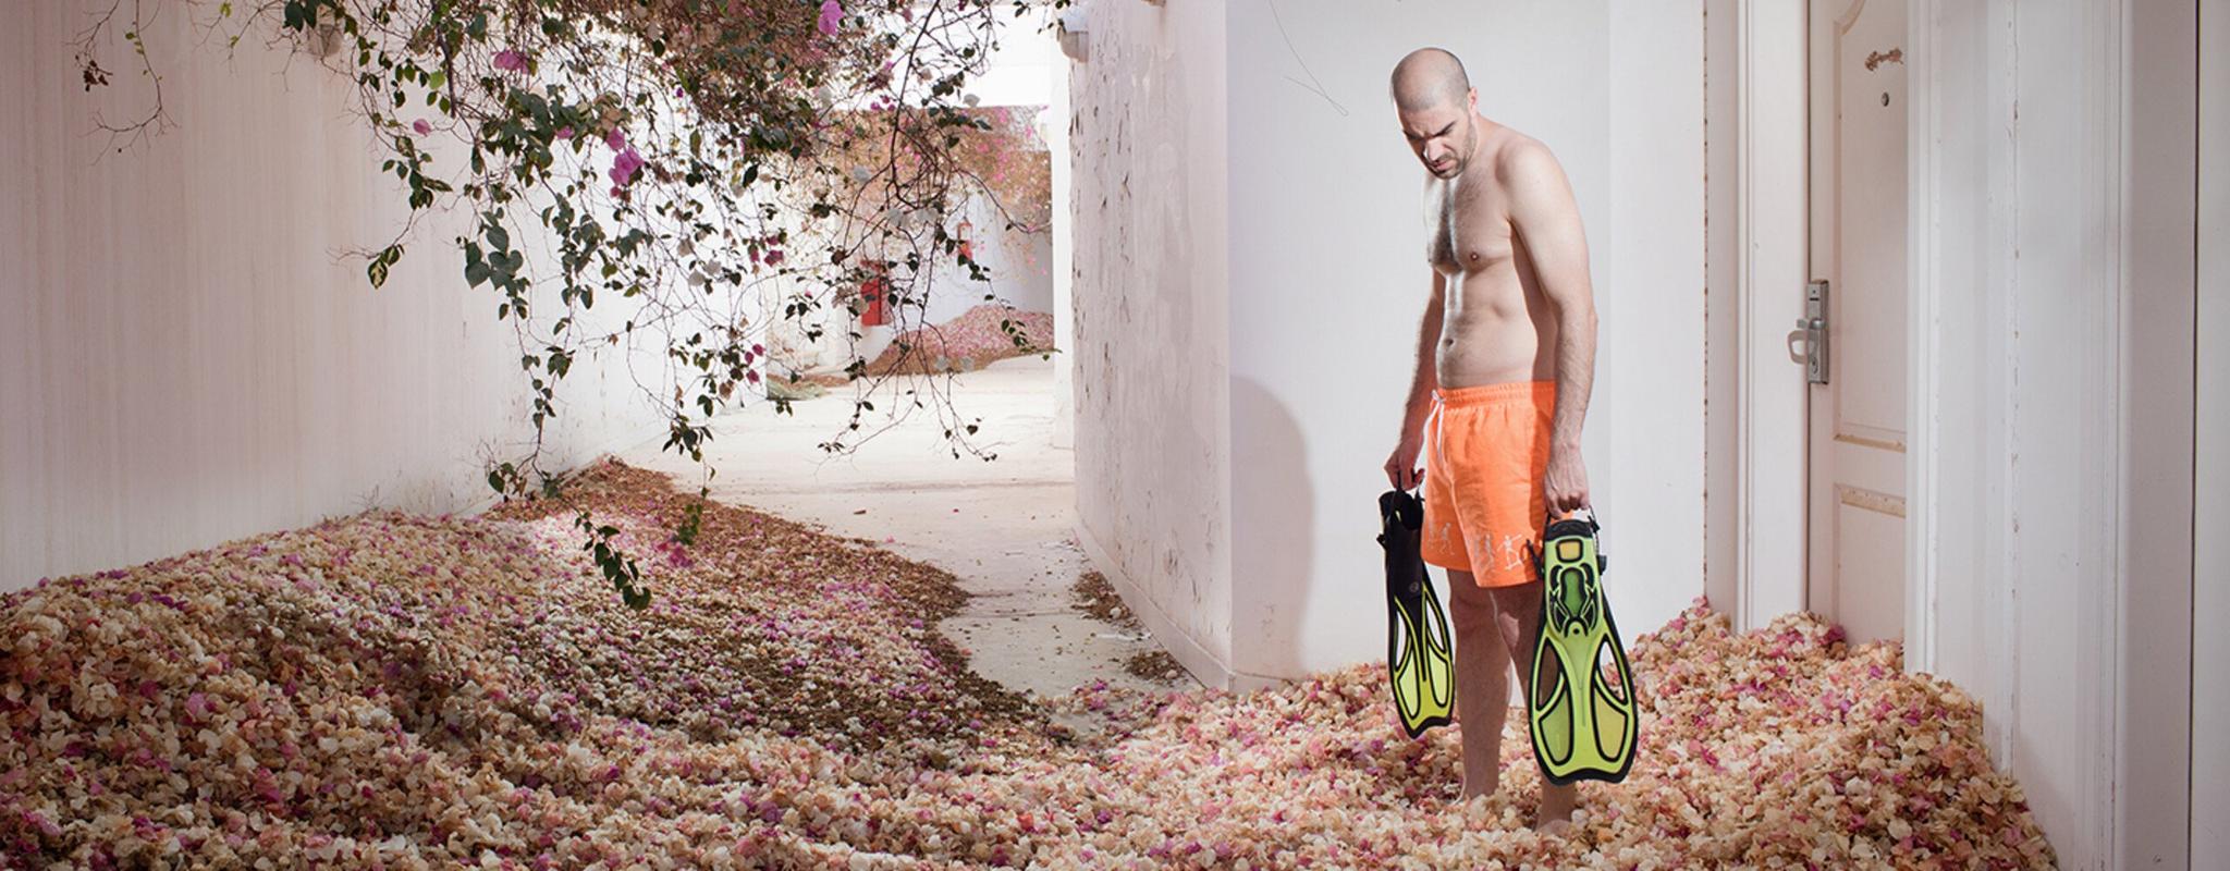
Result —
<instances>
[{"instance_id":1,"label":"floor heaped with dried pink and cream flower petals","mask_svg":"<svg viewBox=\"0 0 2230 871\"><path fill-rule=\"evenodd\" d=\"M1405 740L1378 664L1041 704L961 668L934 568L727 506L680 548L662 477L569 488L651 608L551 501L9 593L0 867L2052 867L1974 702L1815 619L1637 639L1635 773L1539 835L1523 717L1458 802L1456 731Z\"/></svg>"}]
</instances>

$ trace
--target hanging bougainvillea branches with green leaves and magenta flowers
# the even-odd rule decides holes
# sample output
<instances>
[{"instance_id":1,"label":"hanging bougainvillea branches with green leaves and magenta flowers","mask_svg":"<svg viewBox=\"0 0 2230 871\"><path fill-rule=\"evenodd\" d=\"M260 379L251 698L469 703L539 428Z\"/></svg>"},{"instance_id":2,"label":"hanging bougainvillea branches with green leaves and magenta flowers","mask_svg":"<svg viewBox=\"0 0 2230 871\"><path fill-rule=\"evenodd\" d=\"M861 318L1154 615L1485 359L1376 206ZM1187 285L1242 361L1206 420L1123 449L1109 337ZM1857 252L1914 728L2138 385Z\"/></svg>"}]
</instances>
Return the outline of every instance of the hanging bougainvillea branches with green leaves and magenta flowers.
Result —
<instances>
[{"instance_id":1,"label":"hanging bougainvillea branches with green leaves and magenta flowers","mask_svg":"<svg viewBox=\"0 0 2230 871\"><path fill-rule=\"evenodd\" d=\"M513 497L562 497L540 466L562 412L558 383L582 352L660 348L671 394L667 450L702 463L709 419L763 397L763 294L809 319L883 274L894 294L939 258L979 272L946 232L977 178L1008 178L977 145L997 127L968 111L1001 16L1068 0L169 0L243 38L292 45L357 87L357 109L401 180L410 218L359 252L384 285L415 225L466 216L453 238L464 281L491 296L517 336L533 443L491 461ZM118 2L78 51L85 87L103 87L109 33L161 82L143 45L158 0ZM865 107L865 109L859 109ZM147 116L109 127L138 138ZM1004 180L990 180L1006 185ZM1041 218L1039 218L1041 223ZM870 265L872 261L872 265ZM584 314L629 299L609 327ZM903 319L921 312L901 307ZM950 379L876 379L854 399L852 430L879 388L928 394L890 405L957 419ZM785 399L774 399L787 412ZM983 454L975 425L948 425L952 452ZM850 430L847 430L850 432ZM872 430L870 430L872 432ZM852 450L843 434L830 450ZM700 488L705 492L707 488ZM649 593L611 526L580 510L604 575L642 606Z\"/></svg>"}]
</instances>

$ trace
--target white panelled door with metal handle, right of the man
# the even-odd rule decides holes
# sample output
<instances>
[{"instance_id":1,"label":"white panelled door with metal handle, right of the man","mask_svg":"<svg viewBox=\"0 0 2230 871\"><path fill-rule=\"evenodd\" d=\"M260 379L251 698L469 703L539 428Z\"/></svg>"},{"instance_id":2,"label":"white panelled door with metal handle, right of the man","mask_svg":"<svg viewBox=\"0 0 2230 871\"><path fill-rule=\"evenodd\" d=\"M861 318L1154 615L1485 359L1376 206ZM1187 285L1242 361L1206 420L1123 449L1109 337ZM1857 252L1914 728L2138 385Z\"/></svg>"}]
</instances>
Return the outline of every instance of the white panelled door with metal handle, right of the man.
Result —
<instances>
[{"instance_id":1,"label":"white panelled door with metal handle, right of the man","mask_svg":"<svg viewBox=\"0 0 2230 871\"><path fill-rule=\"evenodd\" d=\"M1809 22L1824 301L1800 330L1824 327L1826 383L1815 376L1806 403L1806 610L1851 642L1904 637L1904 16L1907 0L1811 0Z\"/></svg>"}]
</instances>

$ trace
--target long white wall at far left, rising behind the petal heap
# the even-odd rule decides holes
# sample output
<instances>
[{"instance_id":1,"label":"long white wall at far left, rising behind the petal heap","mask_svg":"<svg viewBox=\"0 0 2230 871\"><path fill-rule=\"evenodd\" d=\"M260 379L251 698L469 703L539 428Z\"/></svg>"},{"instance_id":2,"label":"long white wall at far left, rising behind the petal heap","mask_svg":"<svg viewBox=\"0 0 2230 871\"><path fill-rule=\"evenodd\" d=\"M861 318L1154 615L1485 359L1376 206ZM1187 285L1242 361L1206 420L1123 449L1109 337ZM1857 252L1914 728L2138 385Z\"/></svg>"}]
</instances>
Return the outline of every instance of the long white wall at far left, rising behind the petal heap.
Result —
<instances>
[{"instance_id":1,"label":"long white wall at far left, rising behind the petal heap","mask_svg":"<svg viewBox=\"0 0 2230 871\"><path fill-rule=\"evenodd\" d=\"M0 588L366 506L491 501L486 448L513 457L533 432L511 325L464 287L442 221L384 290L334 256L406 214L348 82L259 38L227 60L163 9L147 45L176 127L100 154L94 114L127 118L147 89L123 40L103 56L116 85L80 87L71 42L96 7L20 4L0 29ZM549 468L660 430L589 354L560 401Z\"/></svg>"}]
</instances>

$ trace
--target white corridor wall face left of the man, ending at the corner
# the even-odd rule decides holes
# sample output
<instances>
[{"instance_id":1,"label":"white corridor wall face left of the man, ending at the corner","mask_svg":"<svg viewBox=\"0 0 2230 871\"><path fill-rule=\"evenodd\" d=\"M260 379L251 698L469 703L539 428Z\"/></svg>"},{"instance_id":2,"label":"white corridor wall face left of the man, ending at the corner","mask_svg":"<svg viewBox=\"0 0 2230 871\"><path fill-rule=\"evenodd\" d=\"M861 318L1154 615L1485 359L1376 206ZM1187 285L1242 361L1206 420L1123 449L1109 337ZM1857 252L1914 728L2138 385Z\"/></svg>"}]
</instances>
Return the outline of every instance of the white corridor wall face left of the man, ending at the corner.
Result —
<instances>
[{"instance_id":1,"label":"white corridor wall face left of the man, ending at the corner","mask_svg":"<svg viewBox=\"0 0 2230 871\"><path fill-rule=\"evenodd\" d=\"M1070 67L1077 532L1193 675L1229 679L1224 7L1095 0Z\"/></svg>"}]
</instances>

